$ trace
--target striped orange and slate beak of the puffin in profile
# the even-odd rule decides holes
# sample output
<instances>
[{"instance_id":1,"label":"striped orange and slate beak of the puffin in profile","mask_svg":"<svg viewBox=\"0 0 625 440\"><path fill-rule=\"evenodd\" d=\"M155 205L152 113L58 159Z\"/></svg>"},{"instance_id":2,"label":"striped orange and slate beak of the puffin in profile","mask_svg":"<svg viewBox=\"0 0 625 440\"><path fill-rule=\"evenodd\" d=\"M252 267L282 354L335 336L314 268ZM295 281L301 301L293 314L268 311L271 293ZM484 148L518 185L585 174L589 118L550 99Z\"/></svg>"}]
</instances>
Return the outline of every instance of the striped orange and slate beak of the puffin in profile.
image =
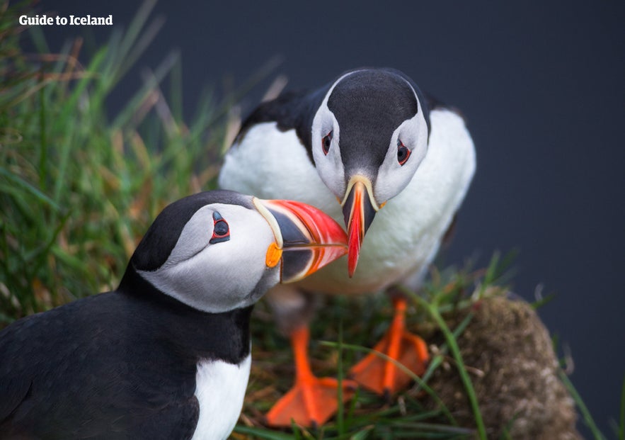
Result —
<instances>
[{"instance_id":1,"label":"striped orange and slate beak of the puffin in profile","mask_svg":"<svg viewBox=\"0 0 625 440\"><path fill-rule=\"evenodd\" d=\"M276 242L265 262L281 262L281 283L299 281L348 253L345 231L321 210L285 200L255 198L254 204L273 228Z\"/></svg>"}]
</instances>

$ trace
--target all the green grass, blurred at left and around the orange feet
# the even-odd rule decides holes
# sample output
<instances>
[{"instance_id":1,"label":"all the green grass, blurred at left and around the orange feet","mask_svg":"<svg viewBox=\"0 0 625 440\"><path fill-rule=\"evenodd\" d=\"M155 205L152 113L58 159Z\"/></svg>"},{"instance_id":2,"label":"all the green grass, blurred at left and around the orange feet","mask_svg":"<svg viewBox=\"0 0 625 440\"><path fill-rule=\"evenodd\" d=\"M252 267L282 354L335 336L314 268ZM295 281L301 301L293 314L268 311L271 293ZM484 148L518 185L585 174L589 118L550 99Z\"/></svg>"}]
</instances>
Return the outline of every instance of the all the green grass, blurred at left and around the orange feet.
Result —
<instances>
[{"instance_id":1,"label":"all the green grass, blurred at left and around the orange feet","mask_svg":"<svg viewBox=\"0 0 625 440\"><path fill-rule=\"evenodd\" d=\"M108 43L81 64L81 40L52 54L38 28L20 35L17 17L28 4L0 6L0 328L34 312L115 288L135 245L167 203L214 188L222 152L236 120L231 105L239 94L215 102L204 94L190 123L183 115L181 62L173 52L144 72L144 85L128 94L114 115L107 99L140 59L161 22L149 19L144 3L127 30L115 28ZM37 52L24 54L20 38ZM164 93L168 85L168 94ZM267 305L253 315L253 372L237 439L466 439L486 438L471 376L457 345L471 314L449 327L446 317L488 295L497 295L510 261L493 258L483 271L433 270L428 286L415 295L408 324L420 332L442 332L444 340L423 378L392 402L359 390L341 407L336 421L317 431L263 426L263 414L290 386L292 357L277 334ZM349 301L349 305L348 305ZM343 313L345 308L355 310ZM316 373L344 377L347 366L369 351L392 310L384 297L329 300L311 329ZM331 323L331 325L328 325ZM458 426L437 400L428 380L453 360L462 378L475 428ZM575 397L595 439L596 428L583 400ZM625 384L619 438L625 431ZM436 402L423 405L423 396ZM511 421L513 423L513 421Z\"/></svg>"}]
</instances>

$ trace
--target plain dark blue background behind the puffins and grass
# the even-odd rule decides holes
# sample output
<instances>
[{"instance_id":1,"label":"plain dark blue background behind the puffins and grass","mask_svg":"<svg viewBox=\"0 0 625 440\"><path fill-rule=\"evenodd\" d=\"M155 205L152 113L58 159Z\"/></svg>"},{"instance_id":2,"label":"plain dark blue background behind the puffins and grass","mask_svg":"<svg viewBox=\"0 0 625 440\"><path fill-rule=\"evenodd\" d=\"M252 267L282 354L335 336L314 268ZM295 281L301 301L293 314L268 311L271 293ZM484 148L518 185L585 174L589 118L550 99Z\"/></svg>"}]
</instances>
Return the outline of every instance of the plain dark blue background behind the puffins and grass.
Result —
<instances>
[{"instance_id":1,"label":"plain dark blue background behind the puffins and grass","mask_svg":"<svg viewBox=\"0 0 625 440\"><path fill-rule=\"evenodd\" d=\"M245 79L275 55L289 87L318 86L361 65L403 70L469 121L478 171L449 263L520 249L515 291L534 299L602 431L612 436L625 374L625 3L461 1L162 1L166 23L138 67L183 57L185 107L199 91ZM38 11L108 16L130 1L42 1ZM84 30L47 28L53 50ZM132 70L113 96L139 86ZM249 111L267 86L242 102ZM612 425L614 426L614 425ZM587 432L587 431L585 431Z\"/></svg>"}]
</instances>

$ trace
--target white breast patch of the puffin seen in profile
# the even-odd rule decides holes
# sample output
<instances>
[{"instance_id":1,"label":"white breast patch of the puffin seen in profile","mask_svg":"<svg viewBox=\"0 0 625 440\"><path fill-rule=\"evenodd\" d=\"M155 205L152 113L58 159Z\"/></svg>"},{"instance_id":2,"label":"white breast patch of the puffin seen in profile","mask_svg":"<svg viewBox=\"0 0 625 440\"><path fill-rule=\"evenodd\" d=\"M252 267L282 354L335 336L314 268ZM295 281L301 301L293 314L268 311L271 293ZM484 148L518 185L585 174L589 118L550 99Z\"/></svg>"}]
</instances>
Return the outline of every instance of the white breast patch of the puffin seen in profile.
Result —
<instances>
[{"instance_id":1,"label":"white breast patch of the puffin seen in profile","mask_svg":"<svg viewBox=\"0 0 625 440\"><path fill-rule=\"evenodd\" d=\"M250 354L239 365L223 361L197 364L195 397L200 402L200 418L192 440L228 438L241 414L251 361Z\"/></svg>"}]
</instances>

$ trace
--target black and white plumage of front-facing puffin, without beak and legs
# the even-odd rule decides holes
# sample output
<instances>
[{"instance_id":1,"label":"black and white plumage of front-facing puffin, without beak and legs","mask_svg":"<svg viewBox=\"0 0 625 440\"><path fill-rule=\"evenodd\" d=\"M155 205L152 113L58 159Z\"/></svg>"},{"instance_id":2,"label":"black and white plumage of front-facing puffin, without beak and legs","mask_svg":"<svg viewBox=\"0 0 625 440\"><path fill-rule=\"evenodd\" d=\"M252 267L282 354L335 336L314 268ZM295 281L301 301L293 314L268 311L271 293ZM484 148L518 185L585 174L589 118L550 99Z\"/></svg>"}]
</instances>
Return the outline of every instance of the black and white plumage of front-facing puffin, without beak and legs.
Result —
<instances>
[{"instance_id":1,"label":"black and white plumage of front-facing puffin, without beak and legs","mask_svg":"<svg viewBox=\"0 0 625 440\"><path fill-rule=\"evenodd\" d=\"M299 286L324 293L418 287L475 170L463 118L428 101L401 72L356 69L315 91L262 103L243 123L219 175L222 188L303 201L348 222L350 185L365 182L369 229L358 270L349 278L340 259Z\"/></svg>"}]
</instances>

